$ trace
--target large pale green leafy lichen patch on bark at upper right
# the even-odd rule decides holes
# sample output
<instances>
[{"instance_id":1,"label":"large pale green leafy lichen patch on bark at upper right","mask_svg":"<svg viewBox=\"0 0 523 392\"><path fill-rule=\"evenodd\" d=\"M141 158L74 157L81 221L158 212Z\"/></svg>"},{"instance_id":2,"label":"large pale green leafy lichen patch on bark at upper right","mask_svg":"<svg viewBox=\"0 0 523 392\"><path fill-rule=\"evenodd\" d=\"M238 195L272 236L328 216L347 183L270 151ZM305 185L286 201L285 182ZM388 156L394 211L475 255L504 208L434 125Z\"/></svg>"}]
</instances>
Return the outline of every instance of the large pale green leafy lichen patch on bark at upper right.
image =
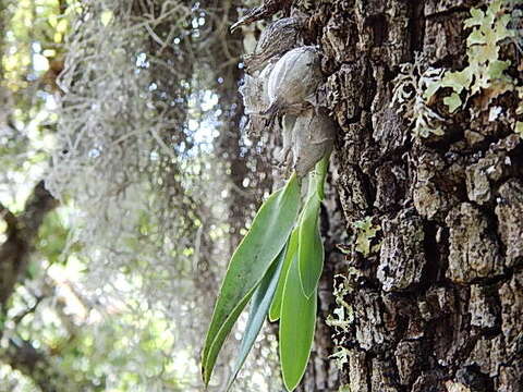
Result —
<instances>
[{"instance_id":1,"label":"large pale green leafy lichen patch on bark at upper right","mask_svg":"<svg viewBox=\"0 0 523 392\"><path fill-rule=\"evenodd\" d=\"M514 22L520 11L511 3L514 0L495 0L485 11L471 10L471 17L464 22L471 33L466 39L469 64L463 70L423 66L426 61L422 54L416 54L414 63L401 65L393 81L392 105L399 106L398 112L410 121L414 137L443 134L445 118L430 109L436 93L443 88L450 89L450 95L442 99L450 113L464 109L469 100L478 95L486 98L479 110L486 110L492 99L516 90L516 81L506 72L511 63L500 58L502 44L509 39L518 46L521 42L519 23ZM522 127L521 122L515 122L514 131L520 135Z\"/></svg>"}]
</instances>

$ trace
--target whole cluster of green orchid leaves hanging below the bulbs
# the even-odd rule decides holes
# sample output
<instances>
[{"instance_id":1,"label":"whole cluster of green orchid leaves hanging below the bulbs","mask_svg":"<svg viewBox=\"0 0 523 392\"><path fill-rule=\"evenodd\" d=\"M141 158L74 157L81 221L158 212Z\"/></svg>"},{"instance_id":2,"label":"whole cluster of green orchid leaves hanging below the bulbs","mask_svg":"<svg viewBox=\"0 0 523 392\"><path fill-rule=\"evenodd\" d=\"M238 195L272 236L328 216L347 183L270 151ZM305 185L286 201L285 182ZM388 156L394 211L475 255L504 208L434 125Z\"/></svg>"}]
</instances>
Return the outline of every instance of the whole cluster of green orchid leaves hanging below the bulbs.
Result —
<instances>
[{"instance_id":1,"label":"whole cluster of green orchid leaves hanging below the bulbs","mask_svg":"<svg viewBox=\"0 0 523 392\"><path fill-rule=\"evenodd\" d=\"M280 360L285 388L292 391L300 383L316 324L317 286L324 262L318 215L329 157L330 154L325 156L309 173L308 194L300 218L300 186L294 173L283 189L262 205L232 256L204 345L202 372L206 384L227 335L255 291L228 389L267 315L270 321L280 319Z\"/></svg>"}]
</instances>

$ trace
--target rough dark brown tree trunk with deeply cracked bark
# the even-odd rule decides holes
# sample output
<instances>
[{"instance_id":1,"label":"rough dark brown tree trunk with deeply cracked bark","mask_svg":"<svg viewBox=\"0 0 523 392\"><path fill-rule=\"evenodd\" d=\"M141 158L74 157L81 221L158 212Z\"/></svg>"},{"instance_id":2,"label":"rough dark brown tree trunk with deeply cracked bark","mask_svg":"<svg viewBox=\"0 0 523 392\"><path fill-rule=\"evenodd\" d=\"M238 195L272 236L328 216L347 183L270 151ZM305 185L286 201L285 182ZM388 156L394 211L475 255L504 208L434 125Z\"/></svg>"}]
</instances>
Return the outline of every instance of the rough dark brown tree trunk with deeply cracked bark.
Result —
<instances>
[{"instance_id":1,"label":"rough dark brown tree trunk with deeply cracked bark","mask_svg":"<svg viewBox=\"0 0 523 392\"><path fill-rule=\"evenodd\" d=\"M523 390L523 147L507 123L489 120L495 106L513 113L518 99L472 100L474 110L447 117L445 134L427 139L391 107L400 64L416 53L424 66L467 64L463 21L487 3L294 2L312 16L325 54L326 106L339 124L332 183L344 218L337 229L331 199L324 292L341 277L335 295L320 298L302 391ZM515 45L502 51L516 64ZM365 217L380 229L363 238L380 244L366 255L354 247L354 223ZM340 240L348 256L333 246ZM328 330L321 319L335 309ZM327 360L332 341L339 377Z\"/></svg>"}]
</instances>

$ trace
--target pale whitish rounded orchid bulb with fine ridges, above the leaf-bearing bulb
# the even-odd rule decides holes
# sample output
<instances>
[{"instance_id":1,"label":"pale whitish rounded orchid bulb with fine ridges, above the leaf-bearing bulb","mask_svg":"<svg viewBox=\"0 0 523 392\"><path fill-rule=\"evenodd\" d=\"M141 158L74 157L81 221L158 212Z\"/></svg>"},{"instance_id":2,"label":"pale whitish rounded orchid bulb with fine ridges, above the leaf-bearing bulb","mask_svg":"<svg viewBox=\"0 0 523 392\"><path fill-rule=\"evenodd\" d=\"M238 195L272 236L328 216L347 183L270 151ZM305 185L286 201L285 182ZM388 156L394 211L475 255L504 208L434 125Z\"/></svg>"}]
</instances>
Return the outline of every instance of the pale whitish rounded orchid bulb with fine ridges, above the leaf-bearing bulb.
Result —
<instances>
[{"instance_id":1,"label":"pale whitish rounded orchid bulb with fine ridges, above the leaf-bearing bulb","mask_svg":"<svg viewBox=\"0 0 523 392\"><path fill-rule=\"evenodd\" d=\"M292 112L293 107L305 106L306 99L314 95L321 81L320 57L315 47L305 46L288 51L270 72L270 106L265 114Z\"/></svg>"}]
</instances>

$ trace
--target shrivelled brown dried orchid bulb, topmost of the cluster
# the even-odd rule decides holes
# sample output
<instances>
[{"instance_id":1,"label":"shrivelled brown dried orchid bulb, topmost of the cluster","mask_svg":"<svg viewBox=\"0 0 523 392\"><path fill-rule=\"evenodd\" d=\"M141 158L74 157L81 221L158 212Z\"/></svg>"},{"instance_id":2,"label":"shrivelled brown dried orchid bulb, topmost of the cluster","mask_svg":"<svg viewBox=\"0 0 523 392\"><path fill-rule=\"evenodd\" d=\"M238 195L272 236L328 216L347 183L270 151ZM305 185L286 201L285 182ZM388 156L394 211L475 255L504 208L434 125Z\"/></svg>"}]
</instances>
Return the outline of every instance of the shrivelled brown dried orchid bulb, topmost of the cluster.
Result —
<instances>
[{"instance_id":1,"label":"shrivelled brown dried orchid bulb, topmost of the cluster","mask_svg":"<svg viewBox=\"0 0 523 392\"><path fill-rule=\"evenodd\" d=\"M245 56L247 71L262 70L269 60L278 60L283 53L303 44L301 17L283 17L267 26L262 33L254 53Z\"/></svg>"}]
</instances>

